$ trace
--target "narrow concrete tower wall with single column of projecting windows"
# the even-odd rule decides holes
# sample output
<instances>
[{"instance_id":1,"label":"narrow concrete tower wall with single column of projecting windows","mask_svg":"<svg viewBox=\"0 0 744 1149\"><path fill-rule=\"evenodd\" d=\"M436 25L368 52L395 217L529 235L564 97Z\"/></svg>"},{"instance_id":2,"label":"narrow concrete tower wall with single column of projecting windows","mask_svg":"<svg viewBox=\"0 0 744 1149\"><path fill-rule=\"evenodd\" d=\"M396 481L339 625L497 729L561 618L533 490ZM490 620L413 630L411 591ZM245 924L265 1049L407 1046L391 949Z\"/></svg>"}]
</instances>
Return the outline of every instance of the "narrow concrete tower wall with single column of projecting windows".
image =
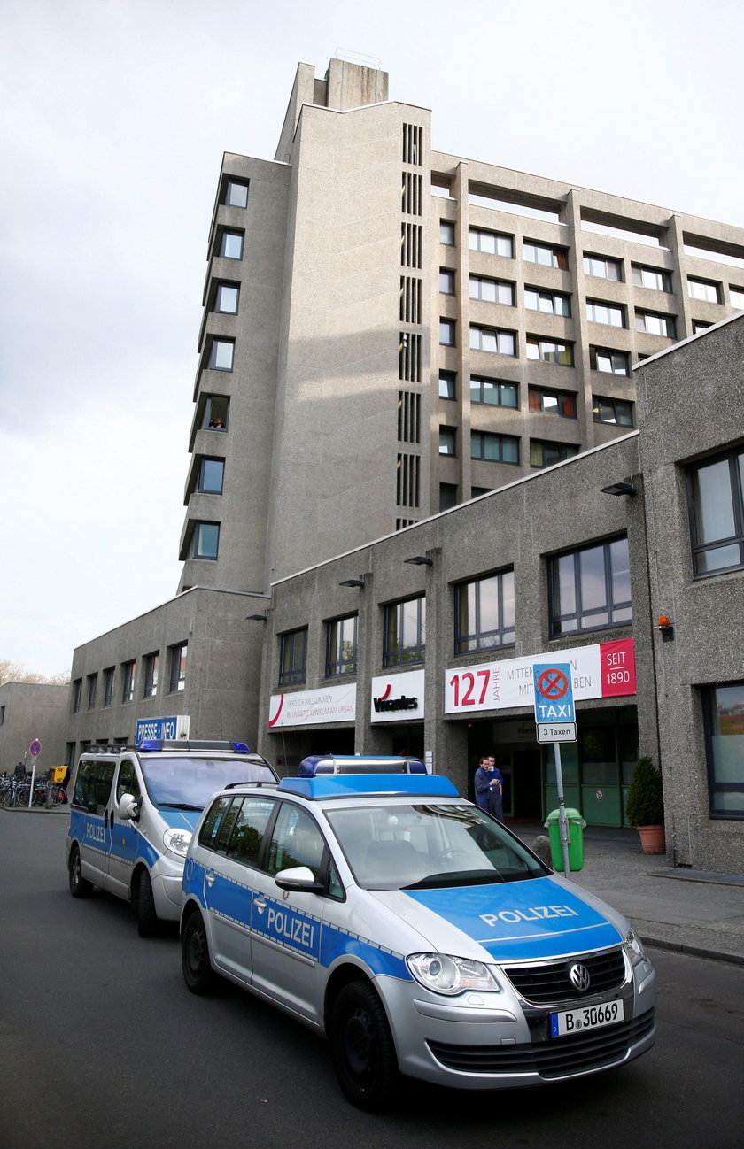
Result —
<instances>
[{"instance_id":1,"label":"narrow concrete tower wall with single column of projecting windows","mask_svg":"<svg viewBox=\"0 0 744 1149\"><path fill-rule=\"evenodd\" d=\"M248 203L247 208L216 206L205 302L208 307L214 280L238 283L238 314L205 311L190 445L192 471L198 471L204 456L224 458L224 485L222 494L200 494L190 491L198 478L197 473L190 475L181 538L181 557L185 562L179 588L206 584L260 592L268 581L269 479L290 169L284 164L228 154L221 179L230 175L250 180ZM241 260L220 259L214 254L215 234L221 226L245 229ZM236 340L232 371L209 370L206 365L209 336ZM212 393L230 399L227 431L201 425L204 396ZM187 557L197 520L220 523L216 561Z\"/></svg>"}]
</instances>

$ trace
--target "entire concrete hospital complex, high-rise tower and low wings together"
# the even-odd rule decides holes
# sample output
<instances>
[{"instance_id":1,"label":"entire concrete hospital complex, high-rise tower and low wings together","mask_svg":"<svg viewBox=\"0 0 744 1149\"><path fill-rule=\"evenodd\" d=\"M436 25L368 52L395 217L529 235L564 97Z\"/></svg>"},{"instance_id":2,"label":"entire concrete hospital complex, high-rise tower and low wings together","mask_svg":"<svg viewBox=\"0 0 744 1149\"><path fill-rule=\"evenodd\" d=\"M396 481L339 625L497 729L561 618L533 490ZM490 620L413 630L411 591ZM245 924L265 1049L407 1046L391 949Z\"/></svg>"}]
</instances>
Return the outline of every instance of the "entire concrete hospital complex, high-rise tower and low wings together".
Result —
<instances>
[{"instance_id":1,"label":"entire concrete hospital complex, high-rise tower and low wings together","mask_svg":"<svg viewBox=\"0 0 744 1149\"><path fill-rule=\"evenodd\" d=\"M405 751L467 793L492 751L544 819L530 674L568 660L568 804L623 825L649 754L674 858L744 865L743 309L744 229L437 152L384 72L300 64L274 160L220 172L178 592L76 649L67 759Z\"/></svg>"}]
</instances>

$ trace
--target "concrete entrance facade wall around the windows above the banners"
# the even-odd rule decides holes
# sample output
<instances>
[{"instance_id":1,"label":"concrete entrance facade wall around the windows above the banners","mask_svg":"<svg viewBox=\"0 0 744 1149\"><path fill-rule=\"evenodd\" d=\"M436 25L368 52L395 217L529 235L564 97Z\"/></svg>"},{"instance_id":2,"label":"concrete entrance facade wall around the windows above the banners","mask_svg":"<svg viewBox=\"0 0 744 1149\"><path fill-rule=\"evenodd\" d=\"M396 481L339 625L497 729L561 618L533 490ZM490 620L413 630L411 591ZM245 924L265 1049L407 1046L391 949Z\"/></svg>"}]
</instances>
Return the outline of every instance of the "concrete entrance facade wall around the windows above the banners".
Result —
<instances>
[{"instance_id":1,"label":"concrete entrance facade wall around the windows above the banners","mask_svg":"<svg viewBox=\"0 0 744 1149\"><path fill-rule=\"evenodd\" d=\"M277 685L281 635L302 626L308 627L307 679L298 689L328 685L333 680L324 679L324 623L354 610L359 610L360 616L354 731L356 750L390 751L393 724L369 723L371 679L383 673L392 677L413 668L402 665L389 671L383 669L383 608L389 602L425 594L425 749L434 755L435 769L446 770L467 791L467 718L445 718L444 715L445 677L452 669L542 651L555 657L575 646L636 634L634 615L632 627L618 626L551 640L546 593L546 560L551 554L604 541L628 531L634 565L637 566L634 572L634 593L638 587L641 594L639 633L646 633L647 603L643 602L643 587L646 585L643 515L638 515L636 506L631 509L631 500L614 498L600 491L603 486L637 475L637 450L638 437L637 433L631 433L607 447L517 480L467 506L276 583L267 632L268 648L264 654L261 699L260 746L263 751L269 756L281 753L279 748L287 737L286 731L282 734L268 728L269 695L286 691ZM411 565L405 560L412 555L430 555L434 563L431 566ZM516 586L515 646L481 654L454 655L454 585L507 566L514 568ZM360 577L365 579L362 588L339 585L344 579ZM647 643L642 637L637 649L638 662L645 662L647 656ZM642 680L651 702L650 714L653 715L653 674L647 668L642 671ZM589 710L616 705L619 701L627 704L634 703L635 699L597 699L580 705L582 710ZM499 710L498 717L530 714L531 705ZM488 712L478 714L478 718L486 715ZM644 718L642 734L646 746L653 739L653 727L647 727L647 722ZM347 728L347 725L330 724L329 730L333 728ZM310 727L305 727L304 732L307 739L314 734ZM294 745L301 745L302 730L290 733L297 735Z\"/></svg>"}]
</instances>

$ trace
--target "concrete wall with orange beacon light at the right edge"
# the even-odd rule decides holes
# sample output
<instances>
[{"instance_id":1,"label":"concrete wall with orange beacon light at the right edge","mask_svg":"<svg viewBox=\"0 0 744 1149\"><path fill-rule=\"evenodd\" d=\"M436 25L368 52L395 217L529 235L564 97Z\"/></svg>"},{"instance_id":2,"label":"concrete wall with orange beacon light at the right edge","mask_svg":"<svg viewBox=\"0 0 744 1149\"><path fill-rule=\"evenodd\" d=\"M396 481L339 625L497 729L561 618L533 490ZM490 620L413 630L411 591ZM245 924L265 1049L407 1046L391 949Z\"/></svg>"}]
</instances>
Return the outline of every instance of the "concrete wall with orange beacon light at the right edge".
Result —
<instances>
[{"instance_id":1,"label":"concrete wall with orange beacon light at the right edge","mask_svg":"<svg viewBox=\"0 0 744 1149\"><path fill-rule=\"evenodd\" d=\"M693 577L687 466L741 444L743 363L741 317L636 371L652 615L674 625L670 642L652 627L668 845L680 864L731 873L744 871L744 822L710 816L700 688L744 680L744 571Z\"/></svg>"}]
</instances>

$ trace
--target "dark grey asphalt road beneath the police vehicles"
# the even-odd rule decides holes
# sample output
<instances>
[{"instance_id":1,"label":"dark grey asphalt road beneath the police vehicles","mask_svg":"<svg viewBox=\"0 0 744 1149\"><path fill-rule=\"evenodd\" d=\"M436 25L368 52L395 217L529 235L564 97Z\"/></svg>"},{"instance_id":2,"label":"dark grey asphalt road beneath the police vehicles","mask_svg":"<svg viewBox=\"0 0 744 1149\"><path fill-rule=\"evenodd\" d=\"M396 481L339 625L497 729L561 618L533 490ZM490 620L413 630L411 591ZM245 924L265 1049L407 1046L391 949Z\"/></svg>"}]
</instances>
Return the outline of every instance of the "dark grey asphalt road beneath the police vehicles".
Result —
<instances>
[{"instance_id":1,"label":"dark grey asphalt road beneath the police vehicles","mask_svg":"<svg viewBox=\"0 0 744 1149\"><path fill-rule=\"evenodd\" d=\"M743 1143L744 969L654 950L658 1039L572 1085L458 1093L408 1082L368 1116L322 1041L225 984L184 987L175 930L67 888L67 819L0 812L2 1149L634 1149Z\"/></svg>"}]
</instances>

